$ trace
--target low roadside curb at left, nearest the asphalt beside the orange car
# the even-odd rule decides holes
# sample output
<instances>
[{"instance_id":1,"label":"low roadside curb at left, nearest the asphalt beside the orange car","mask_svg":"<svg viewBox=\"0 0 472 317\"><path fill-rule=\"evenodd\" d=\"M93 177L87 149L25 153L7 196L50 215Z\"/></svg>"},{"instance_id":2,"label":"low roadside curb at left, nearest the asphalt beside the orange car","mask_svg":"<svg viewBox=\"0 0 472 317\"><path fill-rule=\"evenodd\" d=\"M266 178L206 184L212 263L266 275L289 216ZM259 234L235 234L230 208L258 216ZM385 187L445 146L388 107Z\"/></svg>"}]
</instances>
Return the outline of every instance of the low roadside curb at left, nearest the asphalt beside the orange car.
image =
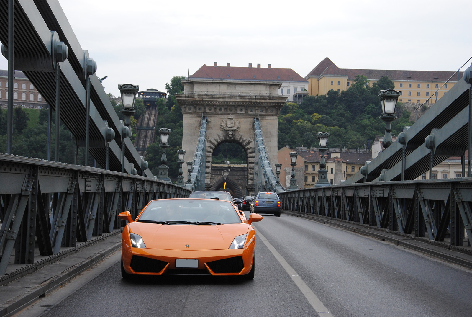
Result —
<instances>
[{"instance_id":1,"label":"low roadside curb at left, nearest the asphalt beside the orange car","mask_svg":"<svg viewBox=\"0 0 472 317\"><path fill-rule=\"evenodd\" d=\"M29 304L38 300L39 298L46 296L48 292L56 289L63 283L76 277L78 274L81 274L85 270L89 269L91 266L94 266L101 259L109 256L111 253L118 250L119 248L121 248L121 242L113 245L112 247L106 250L103 250L99 254L95 254L92 257L86 258L84 261L76 264L75 266L70 267L69 269L57 275L56 277L49 279L47 282L42 283L41 285L38 285L36 289L30 291L29 293L22 294L17 298L11 300L7 305L0 307L0 317L8 317L17 313L19 310L25 308Z\"/></svg>"}]
</instances>

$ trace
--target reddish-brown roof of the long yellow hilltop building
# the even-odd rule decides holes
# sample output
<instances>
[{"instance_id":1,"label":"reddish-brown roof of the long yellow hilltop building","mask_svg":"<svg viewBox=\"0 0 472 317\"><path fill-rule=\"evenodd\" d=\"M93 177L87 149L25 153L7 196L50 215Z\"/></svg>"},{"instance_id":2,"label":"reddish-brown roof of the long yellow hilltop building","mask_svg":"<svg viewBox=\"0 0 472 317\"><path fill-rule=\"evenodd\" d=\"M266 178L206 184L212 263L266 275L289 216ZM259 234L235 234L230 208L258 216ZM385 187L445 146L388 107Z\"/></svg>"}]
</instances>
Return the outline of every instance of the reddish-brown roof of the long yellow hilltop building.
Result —
<instances>
[{"instance_id":1,"label":"reddish-brown roof of the long yellow hilltop building","mask_svg":"<svg viewBox=\"0 0 472 317\"><path fill-rule=\"evenodd\" d=\"M309 76L321 75L342 75L348 79L355 79L356 75L363 75L371 80L379 80L387 76L392 80L404 81L446 81L452 76L451 82L457 81L457 74L454 71L437 70L386 70L386 69L340 69L328 57L322 60L305 78ZM459 72L462 78L463 72ZM453 76L454 75L454 76Z\"/></svg>"}]
</instances>

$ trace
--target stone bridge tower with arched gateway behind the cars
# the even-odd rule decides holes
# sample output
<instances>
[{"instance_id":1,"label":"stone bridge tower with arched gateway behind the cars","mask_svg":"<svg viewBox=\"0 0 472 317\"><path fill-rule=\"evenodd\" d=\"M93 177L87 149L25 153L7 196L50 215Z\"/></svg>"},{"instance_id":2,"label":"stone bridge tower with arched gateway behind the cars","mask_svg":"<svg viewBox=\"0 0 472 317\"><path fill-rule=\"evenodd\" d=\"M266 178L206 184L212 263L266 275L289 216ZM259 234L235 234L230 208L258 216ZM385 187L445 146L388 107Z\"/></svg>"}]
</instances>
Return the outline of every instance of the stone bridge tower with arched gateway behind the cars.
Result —
<instances>
[{"instance_id":1,"label":"stone bridge tower with arched gateway behind the cars","mask_svg":"<svg viewBox=\"0 0 472 317\"><path fill-rule=\"evenodd\" d=\"M282 81L292 69L262 69L206 66L183 79L184 93L177 94L184 117L182 148L185 157L193 159L198 142L200 121L207 117L205 188L219 188L222 177L211 171L213 150L221 143L234 142L247 156L247 179L231 180L234 192L252 191L254 176L254 118L261 121L267 152L277 163L278 114L287 96L278 95ZM295 73L296 74L296 73ZM296 74L297 75L297 74ZM297 75L298 76L298 75ZM186 174L186 172L185 172ZM230 178L230 176L229 176ZM241 196L244 196L241 195Z\"/></svg>"}]
</instances>

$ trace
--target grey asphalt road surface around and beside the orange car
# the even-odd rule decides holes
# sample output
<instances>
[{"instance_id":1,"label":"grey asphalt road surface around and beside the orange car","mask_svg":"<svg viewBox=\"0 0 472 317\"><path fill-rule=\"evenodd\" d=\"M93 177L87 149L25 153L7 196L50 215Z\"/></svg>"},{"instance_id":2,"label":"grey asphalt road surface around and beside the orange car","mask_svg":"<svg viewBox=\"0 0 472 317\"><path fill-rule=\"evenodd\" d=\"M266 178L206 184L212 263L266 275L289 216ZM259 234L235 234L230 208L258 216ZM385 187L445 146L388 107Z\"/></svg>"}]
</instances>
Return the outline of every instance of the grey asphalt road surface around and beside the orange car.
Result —
<instances>
[{"instance_id":1,"label":"grey asphalt road surface around and beside the orange car","mask_svg":"<svg viewBox=\"0 0 472 317\"><path fill-rule=\"evenodd\" d=\"M471 316L471 270L284 214L264 216L254 227L333 316ZM43 316L326 316L317 314L259 236L255 261L253 281L133 282L121 279L117 262Z\"/></svg>"}]
</instances>

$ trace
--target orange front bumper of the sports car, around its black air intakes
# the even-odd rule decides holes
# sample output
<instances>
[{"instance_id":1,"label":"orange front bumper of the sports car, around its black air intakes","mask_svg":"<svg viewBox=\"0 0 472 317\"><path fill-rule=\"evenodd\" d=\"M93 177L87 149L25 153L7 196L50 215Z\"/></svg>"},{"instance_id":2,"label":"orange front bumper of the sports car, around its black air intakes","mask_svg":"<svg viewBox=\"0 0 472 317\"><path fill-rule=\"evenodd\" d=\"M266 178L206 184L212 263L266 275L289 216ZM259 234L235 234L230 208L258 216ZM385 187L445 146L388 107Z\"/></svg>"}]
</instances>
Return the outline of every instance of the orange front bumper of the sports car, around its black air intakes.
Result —
<instances>
[{"instance_id":1,"label":"orange front bumper of the sports car, around its black air intakes","mask_svg":"<svg viewBox=\"0 0 472 317\"><path fill-rule=\"evenodd\" d=\"M243 249L225 249L225 250L163 250L150 248L129 248L125 243L122 244L123 268L128 274L136 275L162 275L162 274L211 274L211 275L245 275L251 271L254 255L254 244L251 243ZM131 266L133 256L146 257L154 260L163 261L163 268L159 272L137 272ZM211 267L214 265L209 262L242 257L243 268L239 272L215 273ZM176 268L176 259L198 259L196 268ZM143 270L142 270L143 271ZM156 271L156 270L154 270Z\"/></svg>"}]
</instances>

